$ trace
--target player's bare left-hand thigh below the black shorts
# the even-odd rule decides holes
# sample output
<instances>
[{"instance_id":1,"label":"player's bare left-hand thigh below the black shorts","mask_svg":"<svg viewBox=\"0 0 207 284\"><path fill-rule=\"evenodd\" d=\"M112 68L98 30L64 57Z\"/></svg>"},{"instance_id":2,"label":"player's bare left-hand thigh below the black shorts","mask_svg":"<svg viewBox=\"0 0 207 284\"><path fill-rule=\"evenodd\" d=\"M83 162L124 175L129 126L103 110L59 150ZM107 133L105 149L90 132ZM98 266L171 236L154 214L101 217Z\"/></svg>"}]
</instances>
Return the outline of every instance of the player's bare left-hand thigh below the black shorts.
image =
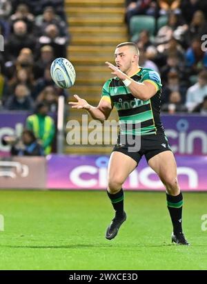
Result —
<instances>
[{"instance_id":1,"label":"player's bare left-hand thigh below the black shorts","mask_svg":"<svg viewBox=\"0 0 207 284\"><path fill-rule=\"evenodd\" d=\"M128 155L113 151L108 164L108 182L124 183L129 174L137 167L137 162Z\"/></svg>"}]
</instances>

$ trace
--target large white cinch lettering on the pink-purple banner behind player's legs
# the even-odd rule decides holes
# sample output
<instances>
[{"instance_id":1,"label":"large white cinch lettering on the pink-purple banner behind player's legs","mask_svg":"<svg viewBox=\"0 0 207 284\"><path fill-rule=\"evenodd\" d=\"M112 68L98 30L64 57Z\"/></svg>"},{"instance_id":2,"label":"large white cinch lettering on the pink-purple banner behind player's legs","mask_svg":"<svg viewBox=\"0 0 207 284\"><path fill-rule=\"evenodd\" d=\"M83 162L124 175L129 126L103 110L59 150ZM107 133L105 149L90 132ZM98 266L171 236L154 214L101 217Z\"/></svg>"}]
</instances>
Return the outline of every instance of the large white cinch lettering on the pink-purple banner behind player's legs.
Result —
<instances>
[{"instance_id":1,"label":"large white cinch lettering on the pink-purple banner behind player's legs","mask_svg":"<svg viewBox=\"0 0 207 284\"><path fill-rule=\"evenodd\" d=\"M78 187L107 187L107 167L108 167L108 157L99 157L95 161L95 166L83 165L75 167L69 173L69 179L73 184ZM86 178L86 175L88 176ZM155 171L150 167L145 167L144 169L132 171L128 178L128 185L132 189L137 189L141 186L147 187L149 189L161 189L164 188L161 180L157 177L155 180ZM190 167L178 167L177 175L186 176L188 178L188 187L190 189L197 189L199 184L199 178L197 172Z\"/></svg>"}]
</instances>

